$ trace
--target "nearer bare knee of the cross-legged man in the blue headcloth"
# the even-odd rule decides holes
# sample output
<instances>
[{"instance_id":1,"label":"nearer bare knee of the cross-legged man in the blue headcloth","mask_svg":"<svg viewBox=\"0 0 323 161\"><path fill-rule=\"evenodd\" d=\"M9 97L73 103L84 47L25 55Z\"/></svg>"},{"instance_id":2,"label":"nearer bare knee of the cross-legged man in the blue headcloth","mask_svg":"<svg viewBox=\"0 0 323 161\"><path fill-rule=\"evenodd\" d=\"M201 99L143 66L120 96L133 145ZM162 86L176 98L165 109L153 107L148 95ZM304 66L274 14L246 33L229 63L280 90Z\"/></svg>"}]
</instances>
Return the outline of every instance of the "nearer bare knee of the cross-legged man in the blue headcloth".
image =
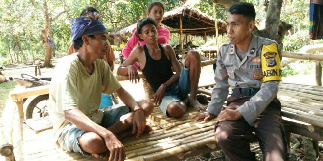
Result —
<instances>
[{"instance_id":1,"label":"nearer bare knee of the cross-legged man in the blue headcloth","mask_svg":"<svg viewBox=\"0 0 323 161\"><path fill-rule=\"evenodd\" d=\"M104 140L96 133L88 132L78 138L82 150L99 154L107 151Z\"/></svg>"}]
</instances>

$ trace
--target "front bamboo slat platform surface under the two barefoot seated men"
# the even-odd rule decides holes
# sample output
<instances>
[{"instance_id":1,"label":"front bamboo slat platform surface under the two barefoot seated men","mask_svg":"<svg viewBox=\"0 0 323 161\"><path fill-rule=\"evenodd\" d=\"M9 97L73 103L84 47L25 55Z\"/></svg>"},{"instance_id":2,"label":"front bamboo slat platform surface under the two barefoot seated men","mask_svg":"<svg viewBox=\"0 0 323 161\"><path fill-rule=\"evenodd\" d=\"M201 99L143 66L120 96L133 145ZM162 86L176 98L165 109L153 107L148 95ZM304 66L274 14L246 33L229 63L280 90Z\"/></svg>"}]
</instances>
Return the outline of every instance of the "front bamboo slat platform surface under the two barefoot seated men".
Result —
<instances>
[{"instance_id":1,"label":"front bamboo slat platform surface under the two barefoot seated men","mask_svg":"<svg viewBox=\"0 0 323 161\"><path fill-rule=\"evenodd\" d=\"M201 112L189 107L181 118L166 117L160 107L154 107L152 116L165 122L176 123L176 126L163 129L148 119L148 125L153 129L149 134L139 138L128 137L121 140L125 146L126 161L178 161L187 157L204 154L216 149L214 124L212 121L195 122L190 117ZM25 124L22 124L21 156L24 161L93 161L93 157L84 157L79 153L69 153L51 144L52 129L36 134ZM17 155L17 153L15 153ZM18 159L17 158L17 159ZM98 160L99 161L99 160Z\"/></svg>"}]
</instances>

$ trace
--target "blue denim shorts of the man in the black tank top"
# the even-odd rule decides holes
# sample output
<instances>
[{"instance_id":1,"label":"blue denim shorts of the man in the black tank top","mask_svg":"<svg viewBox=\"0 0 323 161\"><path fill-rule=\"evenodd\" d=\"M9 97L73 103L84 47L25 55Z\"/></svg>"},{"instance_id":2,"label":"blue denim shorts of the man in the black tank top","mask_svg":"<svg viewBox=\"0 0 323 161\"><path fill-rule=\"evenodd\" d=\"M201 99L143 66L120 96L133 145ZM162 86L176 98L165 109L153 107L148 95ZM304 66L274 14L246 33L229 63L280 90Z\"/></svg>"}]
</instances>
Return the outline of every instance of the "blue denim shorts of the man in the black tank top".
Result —
<instances>
[{"instance_id":1,"label":"blue denim shorts of the man in the black tank top","mask_svg":"<svg viewBox=\"0 0 323 161\"><path fill-rule=\"evenodd\" d=\"M162 98L160 107L161 111L167 115L167 106L172 101L182 101L189 94L191 89L191 81L189 79L189 68L185 67L185 60L181 70L178 82L167 88L165 96Z\"/></svg>"}]
</instances>

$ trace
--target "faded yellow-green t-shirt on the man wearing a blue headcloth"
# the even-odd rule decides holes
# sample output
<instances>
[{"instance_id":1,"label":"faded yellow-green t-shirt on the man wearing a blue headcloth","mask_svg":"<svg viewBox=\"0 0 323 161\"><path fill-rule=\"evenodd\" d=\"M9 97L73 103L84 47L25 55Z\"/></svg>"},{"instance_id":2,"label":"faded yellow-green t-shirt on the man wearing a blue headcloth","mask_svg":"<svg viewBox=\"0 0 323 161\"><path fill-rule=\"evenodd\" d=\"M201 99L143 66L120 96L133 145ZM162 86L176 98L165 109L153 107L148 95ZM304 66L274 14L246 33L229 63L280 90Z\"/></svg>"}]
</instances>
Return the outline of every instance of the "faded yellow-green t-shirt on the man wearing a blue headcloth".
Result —
<instances>
[{"instance_id":1,"label":"faded yellow-green t-shirt on the man wearing a blue headcloth","mask_svg":"<svg viewBox=\"0 0 323 161\"><path fill-rule=\"evenodd\" d=\"M100 124L103 111L99 110L101 93L110 94L121 87L101 59L94 62L94 71L89 75L74 53L59 60L49 88L49 116L53 122L55 141L60 129L68 121L64 111L79 109L95 123Z\"/></svg>"}]
</instances>

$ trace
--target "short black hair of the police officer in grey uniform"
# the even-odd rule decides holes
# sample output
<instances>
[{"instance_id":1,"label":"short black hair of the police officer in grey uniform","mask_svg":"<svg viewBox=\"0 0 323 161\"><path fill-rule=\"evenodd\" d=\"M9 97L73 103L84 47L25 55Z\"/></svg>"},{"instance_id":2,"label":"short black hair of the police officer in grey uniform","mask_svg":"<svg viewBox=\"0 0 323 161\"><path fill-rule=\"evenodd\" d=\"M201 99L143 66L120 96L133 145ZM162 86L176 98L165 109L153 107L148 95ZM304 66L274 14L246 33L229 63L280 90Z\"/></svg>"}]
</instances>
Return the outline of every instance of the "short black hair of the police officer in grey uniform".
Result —
<instances>
[{"instance_id":1,"label":"short black hair of the police officer in grey uniform","mask_svg":"<svg viewBox=\"0 0 323 161\"><path fill-rule=\"evenodd\" d=\"M237 2L231 5L229 8L231 14L243 15L249 20L255 20L254 5L247 2Z\"/></svg>"}]
</instances>

